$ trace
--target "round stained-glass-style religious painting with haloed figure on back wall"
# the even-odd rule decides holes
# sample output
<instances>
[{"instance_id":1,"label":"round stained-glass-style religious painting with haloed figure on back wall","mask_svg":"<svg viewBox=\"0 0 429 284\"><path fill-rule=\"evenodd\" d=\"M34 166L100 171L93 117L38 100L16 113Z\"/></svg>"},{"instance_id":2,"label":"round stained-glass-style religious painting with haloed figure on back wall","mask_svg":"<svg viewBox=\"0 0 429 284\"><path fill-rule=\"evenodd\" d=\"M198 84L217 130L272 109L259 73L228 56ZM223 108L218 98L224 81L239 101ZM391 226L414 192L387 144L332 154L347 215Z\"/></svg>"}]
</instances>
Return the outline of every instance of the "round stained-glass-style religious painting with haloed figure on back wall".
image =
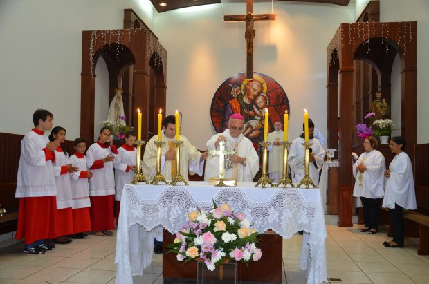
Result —
<instances>
[{"instance_id":1,"label":"round stained-glass-style religious painting with haloed figure on back wall","mask_svg":"<svg viewBox=\"0 0 429 284\"><path fill-rule=\"evenodd\" d=\"M252 142L259 142L264 136L265 108L269 113L268 133L274 131L275 122L284 123L284 111L291 114L282 86L267 75L253 74L253 80L248 80L246 73L238 73L217 89L210 106L210 118L216 133L228 128L228 120L233 113L240 113L244 116L243 135Z\"/></svg>"}]
</instances>

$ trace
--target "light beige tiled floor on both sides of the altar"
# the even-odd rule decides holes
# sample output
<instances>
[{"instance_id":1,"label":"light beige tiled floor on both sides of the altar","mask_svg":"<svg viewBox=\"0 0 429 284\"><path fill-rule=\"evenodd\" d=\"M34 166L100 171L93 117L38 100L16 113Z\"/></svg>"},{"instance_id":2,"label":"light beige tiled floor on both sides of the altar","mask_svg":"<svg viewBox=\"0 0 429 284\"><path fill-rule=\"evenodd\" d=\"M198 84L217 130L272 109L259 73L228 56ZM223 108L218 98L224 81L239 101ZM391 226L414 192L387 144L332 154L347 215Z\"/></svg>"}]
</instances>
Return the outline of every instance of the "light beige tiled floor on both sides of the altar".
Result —
<instances>
[{"instance_id":1,"label":"light beige tiled floor on both sides of the altar","mask_svg":"<svg viewBox=\"0 0 429 284\"><path fill-rule=\"evenodd\" d=\"M360 225L337 227L327 223L327 272L330 283L428 284L429 256L418 256L415 240L405 240L405 248L383 247L387 228L380 233L360 233ZM302 236L296 234L283 243L284 279L287 284L304 284L299 269ZM24 254L22 241L0 243L0 284L114 283L116 237L90 235L57 245L52 252ZM162 257L155 255L152 265L134 284L163 283Z\"/></svg>"}]
</instances>

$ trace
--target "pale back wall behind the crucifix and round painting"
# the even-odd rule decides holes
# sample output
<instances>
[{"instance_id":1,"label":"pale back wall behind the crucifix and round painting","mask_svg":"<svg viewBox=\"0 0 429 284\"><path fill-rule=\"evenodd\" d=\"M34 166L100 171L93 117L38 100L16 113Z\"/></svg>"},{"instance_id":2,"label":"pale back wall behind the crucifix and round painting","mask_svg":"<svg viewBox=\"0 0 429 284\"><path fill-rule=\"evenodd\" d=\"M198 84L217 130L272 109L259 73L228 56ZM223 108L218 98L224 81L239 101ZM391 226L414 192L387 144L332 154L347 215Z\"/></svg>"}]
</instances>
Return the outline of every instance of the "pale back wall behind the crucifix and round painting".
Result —
<instances>
[{"instance_id":1,"label":"pale back wall behind the crucifix and round painting","mask_svg":"<svg viewBox=\"0 0 429 284\"><path fill-rule=\"evenodd\" d=\"M244 23L223 23L241 14L244 3L201 6L156 16L156 35L167 49L167 113L183 112L182 133L198 149L213 135L210 103L219 85L245 71ZM255 3L255 13L271 3ZM275 21L255 23L254 70L275 79L289 97L289 136L302 129L307 108L326 136L327 46L341 22L353 20L353 6L275 2ZM195 131L195 130L198 131Z\"/></svg>"}]
</instances>

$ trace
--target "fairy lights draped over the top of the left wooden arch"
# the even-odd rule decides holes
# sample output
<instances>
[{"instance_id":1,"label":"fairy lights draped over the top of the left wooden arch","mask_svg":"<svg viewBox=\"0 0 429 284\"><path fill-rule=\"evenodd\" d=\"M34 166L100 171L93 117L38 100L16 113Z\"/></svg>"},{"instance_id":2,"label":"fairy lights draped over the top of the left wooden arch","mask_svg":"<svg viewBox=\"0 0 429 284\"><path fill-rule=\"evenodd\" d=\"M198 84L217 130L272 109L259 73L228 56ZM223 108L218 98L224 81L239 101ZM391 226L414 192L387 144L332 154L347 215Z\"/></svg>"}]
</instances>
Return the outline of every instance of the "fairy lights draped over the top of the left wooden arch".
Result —
<instances>
[{"instance_id":1,"label":"fairy lights draped over the top of the left wooden arch","mask_svg":"<svg viewBox=\"0 0 429 284\"><path fill-rule=\"evenodd\" d=\"M167 62L167 50L159 43L158 39L154 36L152 32L147 30L147 28L129 28L125 30L93 30L91 32L91 42L89 44L89 60L91 61L91 76L93 76L93 66L94 66L94 55L95 55L95 46L98 44L98 39L100 39L101 52L105 46L109 46L109 49L112 49L112 44L116 44L116 59L119 61L120 50L124 49L124 35L125 32L128 34L128 43L131 42L131 37L133 37L137 30L143 31L143 36L146 43L146 58L151 57L154 59L154 67L161 68L165 70L165 64ZM113 38L113 40L112 40ZM116 39L116 41L115 41ZM127 44L127 43L125 43ZM156 56L152 56L156 53Z\"/></svg>"}]
</instances>

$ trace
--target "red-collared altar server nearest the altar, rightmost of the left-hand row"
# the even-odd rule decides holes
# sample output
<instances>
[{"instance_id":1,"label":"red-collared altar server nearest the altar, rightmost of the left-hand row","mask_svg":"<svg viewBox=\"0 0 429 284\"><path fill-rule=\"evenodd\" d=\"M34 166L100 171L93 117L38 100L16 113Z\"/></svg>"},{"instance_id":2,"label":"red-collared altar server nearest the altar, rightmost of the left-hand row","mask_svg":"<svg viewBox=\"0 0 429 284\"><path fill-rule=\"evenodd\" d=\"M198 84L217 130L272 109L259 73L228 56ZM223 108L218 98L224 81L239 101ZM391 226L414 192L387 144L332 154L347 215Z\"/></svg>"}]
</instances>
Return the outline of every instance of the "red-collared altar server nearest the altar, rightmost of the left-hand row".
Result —
<instances>
[{"instance_id":1,"label":"red-collared altar server nearest the altar, rightmost of the left-hand row","mask_svg":"<svg viewBox=\"0 0 429 284\"><path fill-rule=\"evenodd\" d=\"M125 134L125 144L118 149L118 163L115 168L115 200L116 200L116 225L118 225L120 211L120 197L125 184L130 184L134 179L137 170L137 151L134 148L136 133L129 132Z\"/></svg>"}]
</instances>

